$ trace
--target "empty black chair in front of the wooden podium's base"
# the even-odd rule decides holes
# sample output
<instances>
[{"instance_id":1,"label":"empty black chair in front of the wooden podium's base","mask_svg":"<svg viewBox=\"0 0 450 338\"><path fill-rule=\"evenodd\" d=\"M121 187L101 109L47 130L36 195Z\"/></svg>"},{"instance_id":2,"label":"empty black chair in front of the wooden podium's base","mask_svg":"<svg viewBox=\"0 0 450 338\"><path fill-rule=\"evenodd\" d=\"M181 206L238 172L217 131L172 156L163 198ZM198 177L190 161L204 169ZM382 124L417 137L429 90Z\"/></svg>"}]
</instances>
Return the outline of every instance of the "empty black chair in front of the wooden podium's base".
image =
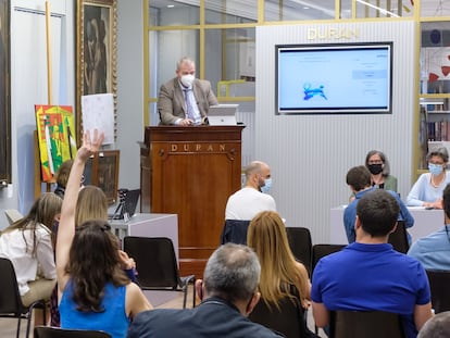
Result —
<instances>
[{"instance_id":1,"label":"empty black chair in front of the wooden podium's base","mask_svg":"<svg viewBox=\"0 0 450 338\"><path fill-rule=\"evenodd\" d=\"M185 309L188 286L192 281L192 306L196 305L196 278L193 275L179 276L178 262L170 238L126 236L124 251L136 261L137 280L142 290L184 292Z\"/></svg>"}]
</instances>

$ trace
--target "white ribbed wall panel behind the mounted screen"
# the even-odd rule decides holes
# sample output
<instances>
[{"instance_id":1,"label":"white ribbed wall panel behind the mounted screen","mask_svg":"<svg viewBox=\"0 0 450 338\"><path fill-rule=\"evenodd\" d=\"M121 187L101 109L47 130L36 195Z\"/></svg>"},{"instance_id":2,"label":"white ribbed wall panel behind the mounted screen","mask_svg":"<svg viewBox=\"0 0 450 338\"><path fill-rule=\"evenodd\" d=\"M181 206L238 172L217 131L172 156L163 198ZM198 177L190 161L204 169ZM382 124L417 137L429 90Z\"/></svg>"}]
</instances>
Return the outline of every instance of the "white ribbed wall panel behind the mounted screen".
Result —
<instances>
[{"instance_id":1,"label":"white ribbed wall panel behind the mounted screen","mask_svg":"<svg viewBox=\"0 0 450 338\"><path fill-rule=\"evenodd\" d=\"M324 38L309 39L308 29ZM326 37L328 29L358 37ZM311 37L311 36L310 36ZM275 115L275 45L393 41L392 114ZM329 209L348 202L347 171L368 150L384 151L404 198L412 179L414 23L322 23L257 28L255 155L272 167L273 196L287 226L329 240ZM330 70L333 72L333 70ZM343 230L343 229L342 229Z\"/></svg>"}]
</instances>

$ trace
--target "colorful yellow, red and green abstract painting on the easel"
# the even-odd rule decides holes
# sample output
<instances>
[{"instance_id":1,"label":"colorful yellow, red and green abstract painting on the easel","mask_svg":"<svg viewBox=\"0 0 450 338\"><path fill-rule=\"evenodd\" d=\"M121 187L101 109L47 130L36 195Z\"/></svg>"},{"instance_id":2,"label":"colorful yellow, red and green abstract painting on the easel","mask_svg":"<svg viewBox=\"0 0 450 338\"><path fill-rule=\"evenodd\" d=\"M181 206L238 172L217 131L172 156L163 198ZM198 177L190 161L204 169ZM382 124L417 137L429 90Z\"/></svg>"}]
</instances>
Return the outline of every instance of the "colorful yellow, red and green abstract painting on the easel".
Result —
<instances>
[{"instance_id":1,"label":"colorful yellow, red and green abstract painting on the easel","mask_svg":"<svg viewBox=\"0 0 450 338\"><path fill-rule=\"evenodd\" d=\"M60 165L76 154L75 122L70 105L35 105L42 181L53 181Z\"/></svg>"}]
</instances>

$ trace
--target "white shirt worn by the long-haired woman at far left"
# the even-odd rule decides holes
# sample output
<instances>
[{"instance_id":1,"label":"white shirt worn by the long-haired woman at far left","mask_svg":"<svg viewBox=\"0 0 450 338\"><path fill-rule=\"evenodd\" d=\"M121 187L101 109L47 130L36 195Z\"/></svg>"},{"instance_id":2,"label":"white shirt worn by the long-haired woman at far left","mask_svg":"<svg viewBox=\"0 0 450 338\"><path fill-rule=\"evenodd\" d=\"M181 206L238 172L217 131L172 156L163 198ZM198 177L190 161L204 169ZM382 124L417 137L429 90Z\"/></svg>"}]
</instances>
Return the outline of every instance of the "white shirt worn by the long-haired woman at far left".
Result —
<instances>
[{"instance_id":1,"label":"white shirt worn by the long-haired woman at far left","mask_svg":"<svg viewBox=\"0 0 450 338\"><path fill-rule=\"evenodd\" d=\"M0 236L0 256L12 262L21 296L28 292L28 281L35 280L37 275L47 279L57 278L51 231L42 224L36 227L36 256L33 256L32 235L29 229L14 229Z\"/></svg>"}]
</instances>

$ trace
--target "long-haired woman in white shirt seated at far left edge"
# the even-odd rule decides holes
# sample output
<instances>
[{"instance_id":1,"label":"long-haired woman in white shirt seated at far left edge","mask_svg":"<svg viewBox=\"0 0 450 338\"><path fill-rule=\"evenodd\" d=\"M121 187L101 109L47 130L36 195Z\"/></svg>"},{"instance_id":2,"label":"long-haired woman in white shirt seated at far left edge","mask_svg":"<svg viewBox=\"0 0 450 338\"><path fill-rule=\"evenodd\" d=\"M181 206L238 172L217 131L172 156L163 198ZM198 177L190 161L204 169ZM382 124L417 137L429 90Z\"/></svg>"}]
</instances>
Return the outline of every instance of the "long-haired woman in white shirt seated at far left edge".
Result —
<instances>
[{"instance_id":1,"label":"long-haired woman in white shirt seated at far left edge","mask_svg":"<svg viewBox=\"0 0 450 338\"><path fill-rule=\"evenodd\" d=\"M57 283L50 228L61 213L61 198L45 192L25 217L1 233L0 256L12 262L25 306L49 299Z\"/></svg>"}]
</instances>

